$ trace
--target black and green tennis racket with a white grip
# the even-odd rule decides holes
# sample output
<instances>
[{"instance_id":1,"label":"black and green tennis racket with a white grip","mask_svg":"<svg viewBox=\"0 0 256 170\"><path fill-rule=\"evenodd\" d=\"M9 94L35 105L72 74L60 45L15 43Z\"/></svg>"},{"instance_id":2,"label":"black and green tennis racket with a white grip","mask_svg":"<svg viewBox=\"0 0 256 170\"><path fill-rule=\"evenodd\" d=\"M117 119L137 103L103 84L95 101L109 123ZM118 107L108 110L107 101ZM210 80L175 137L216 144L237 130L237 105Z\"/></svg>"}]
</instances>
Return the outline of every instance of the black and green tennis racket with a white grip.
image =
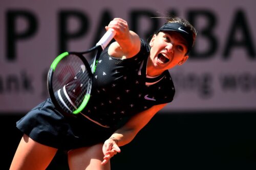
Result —
<instances>
[{"instance_id":1,"label":"black and green tennis racket with a white grip","mask_svg":"<svg viewBox=\"0 0 256 170\"><path fill-rule=\"evenodd\" d=\"M54 59L47 81L50 98L57 109L78 114L86 107L99 56L115 34L115 30L109 29L88 51L65 52ZM88 55L91 58L95 55L91 65Z\"/></svg>"}]
</instances>

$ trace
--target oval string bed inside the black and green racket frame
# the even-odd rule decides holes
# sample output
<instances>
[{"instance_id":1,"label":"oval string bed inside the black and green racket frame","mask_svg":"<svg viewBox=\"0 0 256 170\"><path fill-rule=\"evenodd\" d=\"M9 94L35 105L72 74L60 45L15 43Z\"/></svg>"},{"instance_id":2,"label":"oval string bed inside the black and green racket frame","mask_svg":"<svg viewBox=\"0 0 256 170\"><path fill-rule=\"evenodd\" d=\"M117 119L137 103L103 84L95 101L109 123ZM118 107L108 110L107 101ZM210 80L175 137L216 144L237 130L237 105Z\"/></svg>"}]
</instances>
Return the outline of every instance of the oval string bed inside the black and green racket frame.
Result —
<instances>
[{"instance_id":1,"label":"oval string bed inside the black and green racket frame","mask_svg":"<svg viewBox=\"0 0 256 170\"><path fill-rule=\"evenodd\" d=\"M91 92L91 72L76 55L67 56L55 70L55 98L63 110L73 113Z\"/></svg>"}]
</instances>

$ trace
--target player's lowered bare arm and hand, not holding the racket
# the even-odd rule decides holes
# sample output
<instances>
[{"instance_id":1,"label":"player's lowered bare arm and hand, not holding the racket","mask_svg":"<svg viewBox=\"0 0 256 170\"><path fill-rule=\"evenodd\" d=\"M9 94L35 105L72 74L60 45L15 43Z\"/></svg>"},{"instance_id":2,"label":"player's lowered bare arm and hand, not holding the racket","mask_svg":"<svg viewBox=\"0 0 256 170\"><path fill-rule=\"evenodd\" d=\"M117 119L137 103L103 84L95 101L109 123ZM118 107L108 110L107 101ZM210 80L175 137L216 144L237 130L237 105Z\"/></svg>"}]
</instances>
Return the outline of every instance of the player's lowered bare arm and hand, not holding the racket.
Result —
<instances>
[{"instance_id":1,"label":"player's lowered bare arm and hand, not holding the racket","mask_svg":"<svg viewBox=\"0 0 256 170\"><path fill-rule=\"evenodd\" d=\"M125 145L131 142L138 132L148 123L151 118L161 110L166 104L156 105L150 109L144 110L134 115L123 127L115 131L111 137L104 142L103 154L104 160L102 164L105 164L113 157L117 152L121 152L118 146ZM118 144L118 145L117 145Z\"/></svg>"}]
</instances>

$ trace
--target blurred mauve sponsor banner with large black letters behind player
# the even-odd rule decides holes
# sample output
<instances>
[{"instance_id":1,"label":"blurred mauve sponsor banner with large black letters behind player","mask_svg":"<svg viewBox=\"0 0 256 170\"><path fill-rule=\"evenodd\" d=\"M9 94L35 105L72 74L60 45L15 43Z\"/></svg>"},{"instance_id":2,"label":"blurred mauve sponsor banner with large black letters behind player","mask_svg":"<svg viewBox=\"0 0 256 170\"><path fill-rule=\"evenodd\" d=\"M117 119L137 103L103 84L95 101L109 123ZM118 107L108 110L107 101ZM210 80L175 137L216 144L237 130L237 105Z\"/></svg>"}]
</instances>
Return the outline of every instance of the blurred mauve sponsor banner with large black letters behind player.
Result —
<instances>
[{"instance_id":1,"label":"blurred mauve sponsor banner with large black letters behind player","mask_svg":"<svg viewBox=\"0 0 256 170\"><path fill-rule=\"evenodd\" d=\"M47 72L63 51L84 51L114 17L147 39L168 13L189 20L198 38L170 70L176 95L164 111L256 110L254 1L0 2L0 112L26 112L48 97Z\"/></svg>"}]
</instances>

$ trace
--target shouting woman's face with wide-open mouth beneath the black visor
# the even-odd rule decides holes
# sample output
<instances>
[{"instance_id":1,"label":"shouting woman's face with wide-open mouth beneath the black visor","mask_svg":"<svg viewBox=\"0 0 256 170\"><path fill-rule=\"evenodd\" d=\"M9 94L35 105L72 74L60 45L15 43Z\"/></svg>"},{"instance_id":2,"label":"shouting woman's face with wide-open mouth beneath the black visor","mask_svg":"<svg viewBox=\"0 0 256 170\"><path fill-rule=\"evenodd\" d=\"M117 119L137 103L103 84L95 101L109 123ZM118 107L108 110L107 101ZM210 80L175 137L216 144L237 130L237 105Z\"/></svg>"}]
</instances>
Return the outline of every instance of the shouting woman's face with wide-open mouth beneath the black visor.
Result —
<instances>
[{"instance_id":1,"label":"shouting woman's face with wide-open mouth beneath the black visor","mask_svg":"<svg viewBox=\"0 0 256 170\"><path fill-rule=\"evenodd\" d=\"M164 70L183 64L188 56L186 40L175 31L159 32L150 42L148 71L151 76L160 75Z\"/></svg>"}]
</instances>

